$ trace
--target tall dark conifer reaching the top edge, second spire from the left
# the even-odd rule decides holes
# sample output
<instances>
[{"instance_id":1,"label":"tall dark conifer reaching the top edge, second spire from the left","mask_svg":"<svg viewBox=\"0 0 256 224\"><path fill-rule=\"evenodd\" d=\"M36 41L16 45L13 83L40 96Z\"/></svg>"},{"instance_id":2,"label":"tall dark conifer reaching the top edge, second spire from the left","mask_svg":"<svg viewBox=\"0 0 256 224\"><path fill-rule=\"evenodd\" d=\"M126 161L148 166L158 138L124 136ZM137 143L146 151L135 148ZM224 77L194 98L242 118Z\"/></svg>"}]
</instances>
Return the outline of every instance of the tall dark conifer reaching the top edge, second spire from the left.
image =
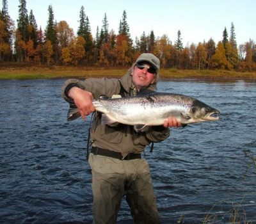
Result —
<instances>
[{"instance_id":1,"label":"tall dark conifer reaching the top edge, second spire from the left","mask_svg":"<svg viewBox=\"0 0 256 224\"><path fill-rule=\"evenodd\" d=\"M29 31L28 31L28 10L26 8L26 0L20 0L19 5L19 19L17 19L17 29L20 33L21 40L25 43L29 40Z\"/></svg>"}]
</instances>

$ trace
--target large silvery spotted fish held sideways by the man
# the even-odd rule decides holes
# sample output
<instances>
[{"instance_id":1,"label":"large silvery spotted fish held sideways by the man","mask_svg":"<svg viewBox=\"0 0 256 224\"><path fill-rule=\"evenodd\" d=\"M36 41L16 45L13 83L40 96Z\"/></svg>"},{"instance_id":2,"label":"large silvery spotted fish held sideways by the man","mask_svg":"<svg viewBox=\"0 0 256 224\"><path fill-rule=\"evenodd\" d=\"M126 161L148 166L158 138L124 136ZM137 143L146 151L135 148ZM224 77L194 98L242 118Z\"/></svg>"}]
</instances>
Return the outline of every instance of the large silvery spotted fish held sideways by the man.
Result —
<instances>
[{"instance_id":1,"label":"large silvery spotted fish held sideways by the man","mask_svg":"<svg viewBox=\"0 0 256 224\"><path fill-rule=\"evenodd\" d=\"M119 122L134 125L136 131L147 125L163 125L170 116L182 124L219 120L218 109L204 102L181 94L146 92L135 97L98 99L92 101L102 114L102 124ZM77 108L70 108L68 120L79 117Z\"/></svg>"}]
</instances>

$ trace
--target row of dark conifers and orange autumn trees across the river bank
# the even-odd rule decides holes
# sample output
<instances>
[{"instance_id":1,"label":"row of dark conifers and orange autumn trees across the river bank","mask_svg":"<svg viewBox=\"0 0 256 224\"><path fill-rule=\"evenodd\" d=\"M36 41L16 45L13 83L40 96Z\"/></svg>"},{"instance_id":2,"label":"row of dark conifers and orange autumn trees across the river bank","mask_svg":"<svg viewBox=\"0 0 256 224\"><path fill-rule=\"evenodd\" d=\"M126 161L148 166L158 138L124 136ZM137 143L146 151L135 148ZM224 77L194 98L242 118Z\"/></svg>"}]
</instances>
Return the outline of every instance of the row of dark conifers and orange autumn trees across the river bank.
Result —
<instances>
[{"instance_id":1,"label":"row of dark conifers and orange autumn trees across the river bank","mask_svg":"<svg viewBox=\"0 0 256 224\"><path fill-rule=\"evenodd\" d=\"M127 13L123 12L116 34L109 30L106 13L102 26L93 38L84 6L79 12L76 35L65 20L57 22L51 5L48 8L47 26L38 28L33 10L28 13L26 0L19 0L17 28L8 14L8 2L3 0L0 12L0 61L17 61L35 65L83 65L127 67L142 53L152 52L161 60L163 68L256 70L256 44L249 40L237 47L233 22L228 38L227 28L223 39L215 43L199 42L184 47L180 30L174 44L167 35L148 35L143 31L136 40L129 33Z\"/></svg>"}]
</instances>

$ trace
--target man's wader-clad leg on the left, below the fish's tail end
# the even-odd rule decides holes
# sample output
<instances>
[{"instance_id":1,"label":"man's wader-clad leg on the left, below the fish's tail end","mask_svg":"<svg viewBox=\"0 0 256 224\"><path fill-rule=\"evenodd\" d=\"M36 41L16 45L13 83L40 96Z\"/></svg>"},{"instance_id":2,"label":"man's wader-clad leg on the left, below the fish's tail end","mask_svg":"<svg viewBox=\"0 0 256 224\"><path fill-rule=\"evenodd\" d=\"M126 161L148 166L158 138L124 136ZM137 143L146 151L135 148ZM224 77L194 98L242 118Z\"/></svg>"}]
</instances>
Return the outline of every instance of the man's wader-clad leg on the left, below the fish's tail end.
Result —
<instances>
[{"instance_id":1,"label":"man's wader-clad leg on the left, below the fish's tail end","mask_svg":"<svg viewBox=\"0 0 256 224\"><path fill-rule=\"evenodd\" d=\"M90 155L93 191L93 224L116 223L122 196L124 173L120 161Z\"/></svg>"}]
</instances>

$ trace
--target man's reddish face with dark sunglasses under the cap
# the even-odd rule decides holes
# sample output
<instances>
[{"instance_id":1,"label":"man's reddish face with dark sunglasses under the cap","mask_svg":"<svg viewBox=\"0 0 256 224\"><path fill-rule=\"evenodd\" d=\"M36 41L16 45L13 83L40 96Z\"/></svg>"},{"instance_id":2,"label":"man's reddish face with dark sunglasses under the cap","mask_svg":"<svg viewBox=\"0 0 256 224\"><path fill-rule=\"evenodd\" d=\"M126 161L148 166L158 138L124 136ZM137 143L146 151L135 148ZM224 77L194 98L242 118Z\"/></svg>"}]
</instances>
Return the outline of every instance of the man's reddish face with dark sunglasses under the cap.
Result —
<instances>
[{"instance_id":1,"label":"man's reddish face with dark sunglasses under the cap","mask_svg":"<svg viewBox=\"0 0 256 224\"><path fill-rule=\"evenodd\" d=\"M138 91L153 84L156 79L156 70L149 63L139 63L132 71L132 83Z\"/></svg>"}]
</instances>

